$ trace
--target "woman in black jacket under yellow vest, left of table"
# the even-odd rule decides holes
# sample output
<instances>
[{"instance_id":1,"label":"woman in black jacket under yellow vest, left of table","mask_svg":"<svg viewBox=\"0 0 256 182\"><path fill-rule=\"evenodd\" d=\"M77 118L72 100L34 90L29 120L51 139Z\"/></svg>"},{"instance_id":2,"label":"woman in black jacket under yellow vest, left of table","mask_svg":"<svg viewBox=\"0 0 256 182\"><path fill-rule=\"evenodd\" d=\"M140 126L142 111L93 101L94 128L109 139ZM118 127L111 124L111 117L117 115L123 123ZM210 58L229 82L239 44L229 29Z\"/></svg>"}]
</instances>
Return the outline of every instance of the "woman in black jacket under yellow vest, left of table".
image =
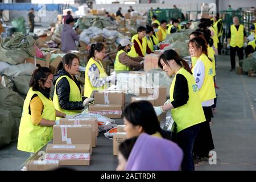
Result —
<instances>
[{"instance_id":1,"label":"woman in black jacket under yellow vest, left of table","mask_svg":"<svg viewBox=\"0 0 256 182\"><path fill-rule=\"evenodd\" d=\"M81 113L84 106L93 101L93 98L82 98L81 85L75 76L79 73L79 63L79 57L67 53L58 65L53 79L53 104L56 110L67 115Z\"/></svg>"}]
</instances>

